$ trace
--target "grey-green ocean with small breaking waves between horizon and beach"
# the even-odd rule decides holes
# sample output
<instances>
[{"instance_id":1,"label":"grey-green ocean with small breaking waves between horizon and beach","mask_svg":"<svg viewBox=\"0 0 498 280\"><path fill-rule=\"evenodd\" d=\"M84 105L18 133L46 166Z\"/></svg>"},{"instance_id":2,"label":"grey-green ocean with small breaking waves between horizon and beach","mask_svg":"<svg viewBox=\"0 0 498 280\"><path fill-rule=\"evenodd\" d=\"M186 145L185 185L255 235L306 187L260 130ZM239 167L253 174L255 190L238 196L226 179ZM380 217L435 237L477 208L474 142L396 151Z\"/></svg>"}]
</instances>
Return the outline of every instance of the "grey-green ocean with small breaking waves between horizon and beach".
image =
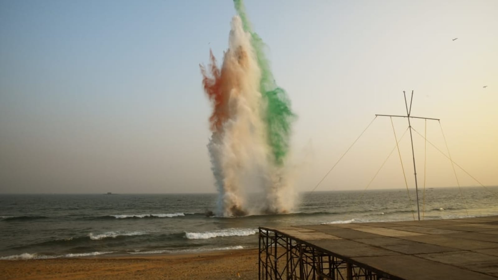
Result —
<instances>
[{"instance_id":1,"label":"grey-green ocean with small breaking waves between horizon and beach","mask_svg":"<svg viewBox=\"0 0 498 280\"><path fill-rule=\"evenodd\" d=\"M214 193L1 194L0 260L257 248L259 226L417 219L410 197L406 189L302 193L290 214L225 218L206 215ZM498 187L429 188L419 197L421 219L498 215Z\"/></svg>"}]
</instances>

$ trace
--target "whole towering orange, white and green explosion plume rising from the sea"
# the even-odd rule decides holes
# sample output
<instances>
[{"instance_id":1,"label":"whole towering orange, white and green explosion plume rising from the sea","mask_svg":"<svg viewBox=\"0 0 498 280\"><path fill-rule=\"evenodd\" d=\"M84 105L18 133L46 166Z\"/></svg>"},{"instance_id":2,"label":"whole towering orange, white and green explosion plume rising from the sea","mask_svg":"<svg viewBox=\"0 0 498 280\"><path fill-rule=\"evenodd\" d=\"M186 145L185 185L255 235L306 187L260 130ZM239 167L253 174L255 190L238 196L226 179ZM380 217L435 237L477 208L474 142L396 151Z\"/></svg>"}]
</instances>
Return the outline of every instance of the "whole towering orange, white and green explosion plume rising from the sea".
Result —
<instances>
[{"instance_id":1,"label":"whole towering orange, white and green explosion plume rising from the sea","mask_svg":"<svg viewBox=\"0 0 498 280\"><path fill-rule=\"evenodd\" d=\"M219 191L218 215L255 212L247 191L265 194L259 212L286 213L294 193L286 168L295 115L286 92L276 86L264 55L264 43L252 31L241 0L232 19L229 48L221 69L210 52L209 74L201 65L204 90L213 104L208 144Z\"/></svg>"}]
</instances>

